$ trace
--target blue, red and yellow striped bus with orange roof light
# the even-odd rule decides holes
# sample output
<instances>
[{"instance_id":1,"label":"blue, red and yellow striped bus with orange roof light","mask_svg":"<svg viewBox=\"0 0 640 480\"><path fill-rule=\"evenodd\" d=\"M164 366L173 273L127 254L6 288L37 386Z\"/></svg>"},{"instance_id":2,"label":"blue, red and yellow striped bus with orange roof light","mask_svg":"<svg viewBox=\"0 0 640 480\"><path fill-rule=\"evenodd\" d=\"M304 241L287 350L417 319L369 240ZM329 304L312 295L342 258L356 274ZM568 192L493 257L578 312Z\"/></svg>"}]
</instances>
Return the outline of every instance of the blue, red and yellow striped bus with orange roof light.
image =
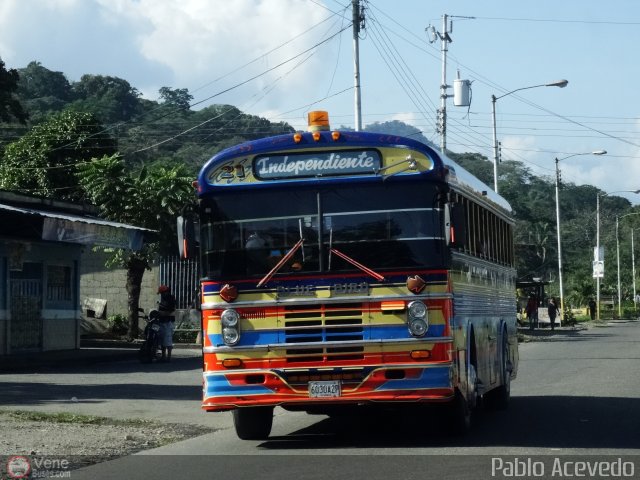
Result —
<instances>
[{"instance_id":1,"label":"blue, red and yellow striped bus with orange roof light","mask_svg":"<svg viewBox=\"0 0 640 480\"><path fill-rule=\"evenodd\" d=\"M202 408L265 439L274 407L444 403L452 430L516 377L509 204L418 141L332 131L226 149L178 221L202 265ZM196 224L197 222L197 224Z\"/></svg>"}]
</instances>

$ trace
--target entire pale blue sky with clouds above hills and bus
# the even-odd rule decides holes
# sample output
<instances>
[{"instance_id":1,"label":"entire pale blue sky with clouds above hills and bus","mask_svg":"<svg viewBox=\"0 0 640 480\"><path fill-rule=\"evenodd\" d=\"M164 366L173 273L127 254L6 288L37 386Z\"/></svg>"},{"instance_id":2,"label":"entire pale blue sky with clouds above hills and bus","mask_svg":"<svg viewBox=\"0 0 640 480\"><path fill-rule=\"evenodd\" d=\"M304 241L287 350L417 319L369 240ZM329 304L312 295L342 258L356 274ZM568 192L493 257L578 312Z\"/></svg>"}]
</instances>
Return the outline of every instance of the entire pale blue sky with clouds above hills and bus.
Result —
<instances>
[{"instance_id":1,"label":"entire pale blue sky with clouds above hills and bus","mask_svg":"<svg viewBox=\"0 0 640 480\"><path fill-rule=\"evenodd\" d=\"M495 95L503 160L553 179L558 158L564 181L640 189L640 2L360 1L364 125L402 120L440 144L441 42L429 27L444 33L447 15L447 84L471 85L469 107L447 99L449 150L493 159ZM186 88L195 109L229 104L300 129L327 110L332 127L354 127L351 18L349 0L1 0L0 58L70 81L120 77L149 99Z\"/></svg>"}]
</instances>

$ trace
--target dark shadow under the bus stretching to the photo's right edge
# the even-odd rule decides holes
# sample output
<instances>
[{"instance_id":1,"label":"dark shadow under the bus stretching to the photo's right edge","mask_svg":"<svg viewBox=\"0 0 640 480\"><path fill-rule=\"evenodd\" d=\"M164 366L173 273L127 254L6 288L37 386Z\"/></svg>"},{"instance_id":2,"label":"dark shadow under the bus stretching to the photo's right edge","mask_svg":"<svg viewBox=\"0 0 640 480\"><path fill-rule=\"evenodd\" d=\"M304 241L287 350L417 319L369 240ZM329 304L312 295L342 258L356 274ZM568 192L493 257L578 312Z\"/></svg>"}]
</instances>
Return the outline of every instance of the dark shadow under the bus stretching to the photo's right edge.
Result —
<instances>
[{"instance_id":1,"label":"dark shadow under the bus stretching to the photo's right edge","mask_svg":"<svg viewBox=\"0 0 640 480\"><path fill-rule=\"evenodd\" d=\"M383 413L329 418L282 437L266 449L541 447L640 448L640 399L604 397L514 397L504 412L479 410L472 431L449 435L438 410L408 415ZM276 419L277 421L277 419Z\"/></svg>"}]
</instances>

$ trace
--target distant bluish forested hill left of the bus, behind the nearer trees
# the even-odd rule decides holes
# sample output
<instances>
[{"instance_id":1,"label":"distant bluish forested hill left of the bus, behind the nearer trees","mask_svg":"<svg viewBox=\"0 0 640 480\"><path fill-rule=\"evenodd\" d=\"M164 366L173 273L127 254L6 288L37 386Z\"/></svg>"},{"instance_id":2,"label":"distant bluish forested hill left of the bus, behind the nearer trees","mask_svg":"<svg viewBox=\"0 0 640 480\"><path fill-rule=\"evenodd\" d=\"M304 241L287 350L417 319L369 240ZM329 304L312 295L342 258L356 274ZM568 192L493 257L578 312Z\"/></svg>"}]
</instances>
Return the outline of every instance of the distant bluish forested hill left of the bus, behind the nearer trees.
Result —
<instances>
[{"instance_id":1,"label":"distant bluish forested hill left of the bus, behind the nearer trees","mask_svg":"<svg viewBox=\"0 0 640 480\"><path fill-rule=\"evenodd\" d=\"M293 131L286 123L247 115L231 105L192 110L193 97L187 89L163 87L158 100L152 101L143 99L122 78L86 74L79 81L70 82L62 72L48 70L37 62L17 71L15 96L29 120L24 127L5 125L2 145L54 114L82 112L91 114L98 129L106 130L116 140L118 151L129 164L180 162L195 173L215 152L227 146ZM95 126L84 127L95 130Z\"/></svg>"}]
</instances>

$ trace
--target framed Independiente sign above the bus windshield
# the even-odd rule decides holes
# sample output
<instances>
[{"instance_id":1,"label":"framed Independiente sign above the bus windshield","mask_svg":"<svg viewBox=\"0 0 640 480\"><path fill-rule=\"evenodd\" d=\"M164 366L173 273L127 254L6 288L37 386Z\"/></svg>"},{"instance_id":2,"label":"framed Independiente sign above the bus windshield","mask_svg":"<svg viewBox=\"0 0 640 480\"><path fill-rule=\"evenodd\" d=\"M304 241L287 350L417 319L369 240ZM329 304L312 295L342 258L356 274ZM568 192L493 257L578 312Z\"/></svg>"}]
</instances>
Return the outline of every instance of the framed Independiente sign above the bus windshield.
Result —
<instances>
[{"instance_id":1,"label":"framed Independiente sign above the bus windshield","mask_svg":"<svg viewBox=\"0 0 640 480\"><path fill-rule=\"evenodd\" d=\"M375 173L380 167L377 150L269 155L253 161L254 175L261 180L358 175Z\"/></svg>"}]
</instances>

